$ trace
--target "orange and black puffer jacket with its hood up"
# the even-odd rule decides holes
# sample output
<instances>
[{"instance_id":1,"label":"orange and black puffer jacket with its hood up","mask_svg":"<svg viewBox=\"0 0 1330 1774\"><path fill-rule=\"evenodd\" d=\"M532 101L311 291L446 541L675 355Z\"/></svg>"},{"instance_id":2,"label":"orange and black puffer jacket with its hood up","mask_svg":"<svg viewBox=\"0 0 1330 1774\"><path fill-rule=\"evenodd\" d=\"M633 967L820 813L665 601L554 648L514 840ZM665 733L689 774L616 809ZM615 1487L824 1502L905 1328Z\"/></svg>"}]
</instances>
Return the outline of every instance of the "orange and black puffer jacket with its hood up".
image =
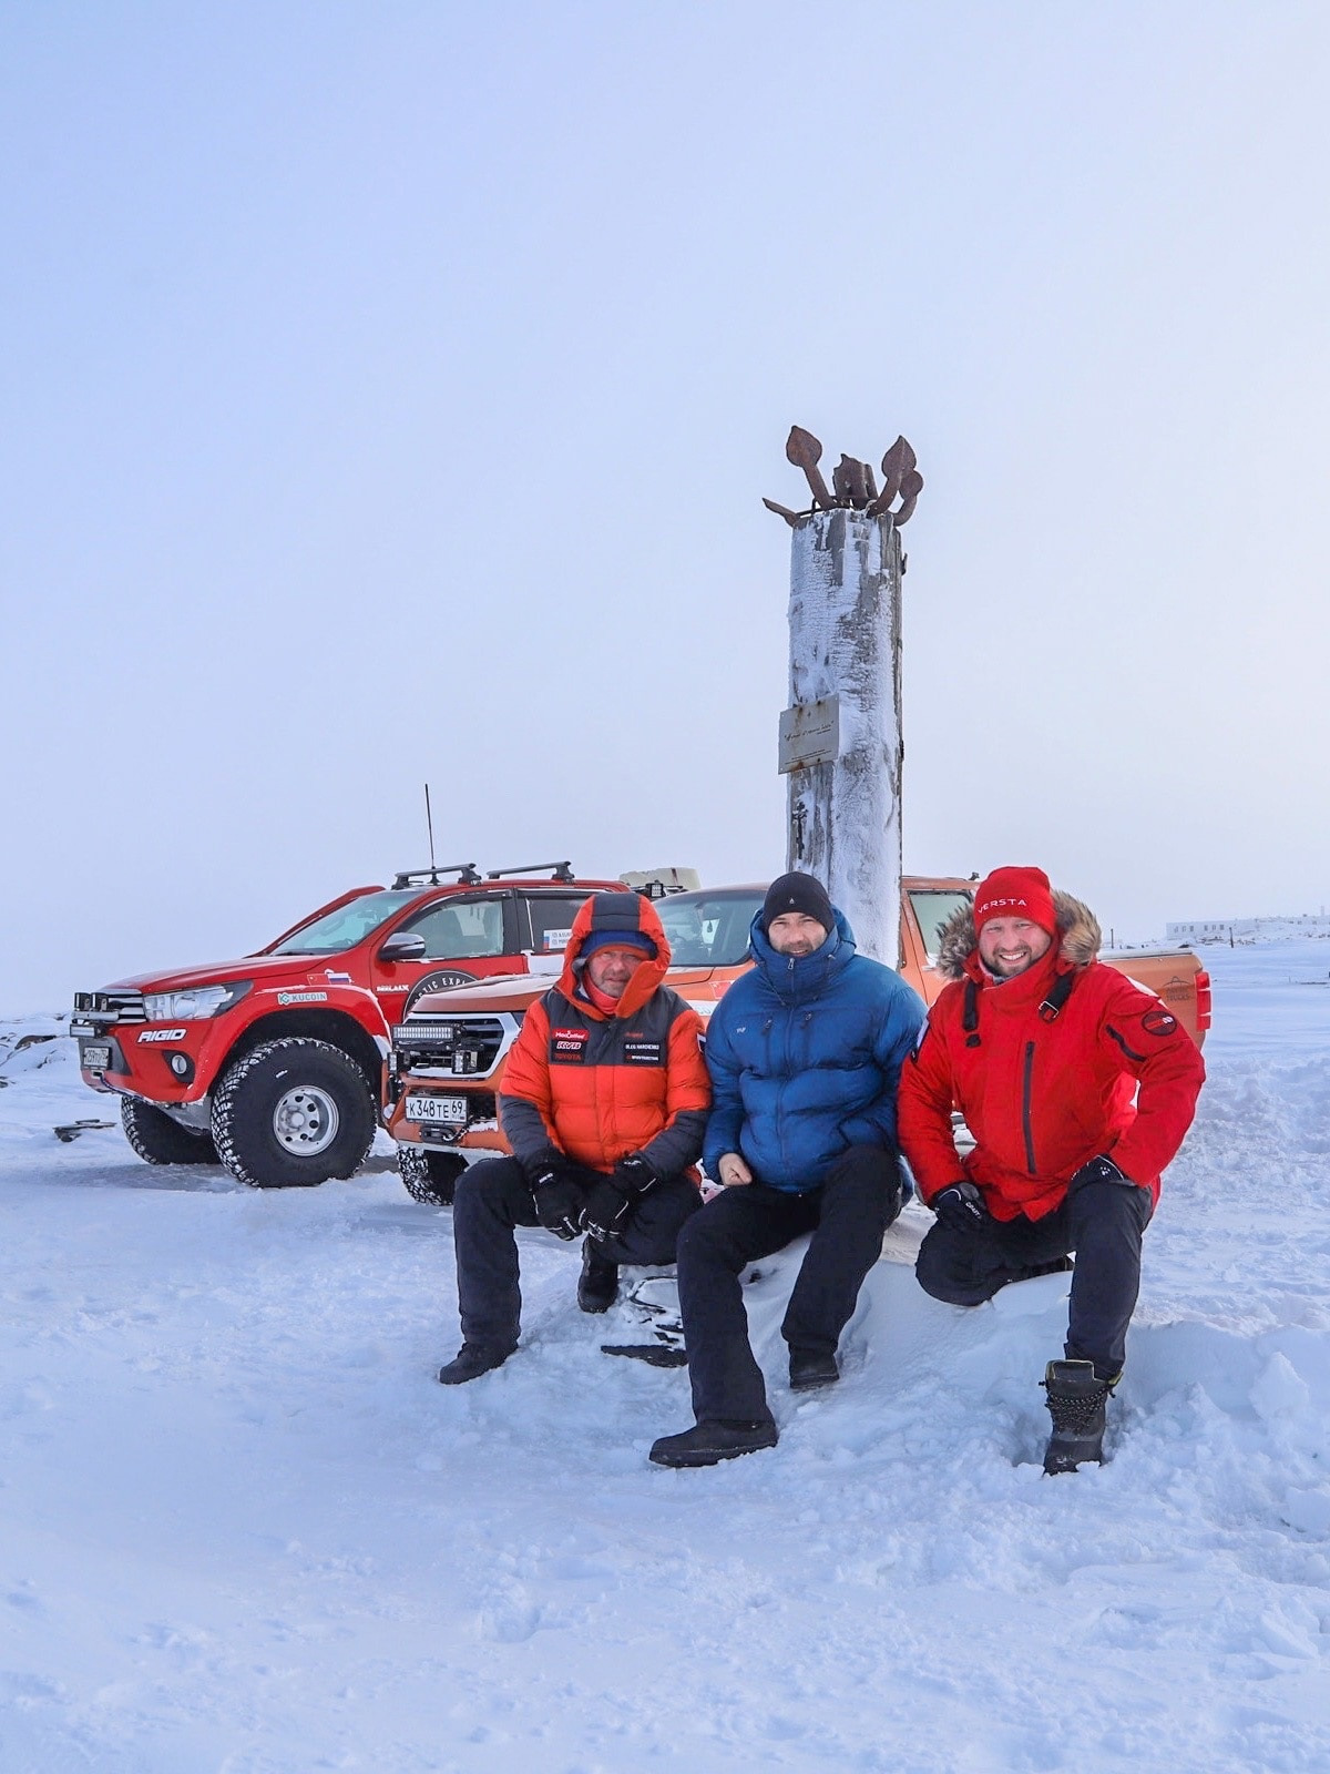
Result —
<instances>
[{"instance_id":1,"label":"orange and black puffer jacket with its hood up","mask_svg":"<svg viewBox=\"0 0 1330 1774\"><path fill-rule=\"evenodd\" d=\"M612 1013L582 985L592 931L638 931L656 944ZM580 908L559 985L527 1011L507 1056L498 1114L518 1162L539 1162L552 1146L594 1171L612 1171L630 1151L661 1176L697 1162L711 1107L702 1018L663 985L669 965L649 899L599 892Z\"/></svg>"}]
</instances>

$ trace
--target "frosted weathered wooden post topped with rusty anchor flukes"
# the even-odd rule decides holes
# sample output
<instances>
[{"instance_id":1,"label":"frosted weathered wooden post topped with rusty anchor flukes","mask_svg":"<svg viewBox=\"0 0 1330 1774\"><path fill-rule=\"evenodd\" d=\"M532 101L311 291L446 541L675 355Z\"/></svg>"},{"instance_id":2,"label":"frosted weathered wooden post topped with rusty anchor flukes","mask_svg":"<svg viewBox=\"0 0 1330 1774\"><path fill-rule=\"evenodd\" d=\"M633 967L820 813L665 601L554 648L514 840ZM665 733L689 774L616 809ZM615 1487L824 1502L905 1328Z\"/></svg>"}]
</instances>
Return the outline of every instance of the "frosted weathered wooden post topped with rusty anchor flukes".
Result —
<instances>
[{"instance_id":1,"label":"frosted weathered wooden post topped with rusty anchor flukes","mask_svg":"<svg viewBox=\"0 0 1330 1774\"><path fill-rule=\"evenodd\" d=\"M849 919L860 953L896 967L904 750L899 529L924 477L904 438L881 459L881 491L872 468L849 456L828 490L818 470L821 444L798 426L786 456L812 490L809 511L763 500L794 532L789 708L780 717L786 867L816 875Z\"/></svg>"}]
</instances>

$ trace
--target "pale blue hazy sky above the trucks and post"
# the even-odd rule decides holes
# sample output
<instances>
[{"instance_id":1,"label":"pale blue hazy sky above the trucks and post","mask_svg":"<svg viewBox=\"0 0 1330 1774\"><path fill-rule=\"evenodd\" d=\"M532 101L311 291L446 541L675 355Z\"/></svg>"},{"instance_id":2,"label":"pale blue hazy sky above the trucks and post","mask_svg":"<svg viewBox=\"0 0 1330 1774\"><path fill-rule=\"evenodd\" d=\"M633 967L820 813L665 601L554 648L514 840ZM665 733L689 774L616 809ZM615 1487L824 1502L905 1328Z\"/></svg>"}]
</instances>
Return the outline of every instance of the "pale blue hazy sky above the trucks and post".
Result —
<instances>
[{"instance_id":1,"label":"pale blue hazy sky above the trucks and post","mask_svg":"<svg viewBox=\"0 0 1330 1774\"><path fill-rule=\"evenodd\" d=\"M784 864L791 422L927 479L906 867L1330 903L1330 12L0 9L0 1008L426 855Z\"/></svg>"}]
</instances>

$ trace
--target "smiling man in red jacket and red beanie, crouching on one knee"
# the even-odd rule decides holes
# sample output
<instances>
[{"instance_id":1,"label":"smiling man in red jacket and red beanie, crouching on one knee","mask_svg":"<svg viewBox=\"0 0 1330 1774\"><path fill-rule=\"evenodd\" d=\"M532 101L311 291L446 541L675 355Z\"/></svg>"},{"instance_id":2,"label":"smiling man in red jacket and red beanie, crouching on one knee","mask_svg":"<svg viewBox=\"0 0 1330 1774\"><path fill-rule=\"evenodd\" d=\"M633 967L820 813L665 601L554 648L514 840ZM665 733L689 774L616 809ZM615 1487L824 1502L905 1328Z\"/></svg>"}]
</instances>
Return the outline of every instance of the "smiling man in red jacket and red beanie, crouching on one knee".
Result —
<instances>
[{"instance_id":1,"label":"smiling man in red jacket and red beanie, crouching on one knee","mask_svg":"<svg viewBox=\"0 0 1330 1774\"><path fill-rule=\"evenodd\" d=\"M1043 869L995 869L942 933L951 983L901 1073L901 1148L936 1213L920 1286L979 1306L1068 1268L1066 1359L1044 1375L1046 1472L1103 1458L1160 1173L1206 1077L1162 999L1096 960L1099 924ZM961 1160L959 1109L975 1146Z\"/></svg>"}]
</instances>

